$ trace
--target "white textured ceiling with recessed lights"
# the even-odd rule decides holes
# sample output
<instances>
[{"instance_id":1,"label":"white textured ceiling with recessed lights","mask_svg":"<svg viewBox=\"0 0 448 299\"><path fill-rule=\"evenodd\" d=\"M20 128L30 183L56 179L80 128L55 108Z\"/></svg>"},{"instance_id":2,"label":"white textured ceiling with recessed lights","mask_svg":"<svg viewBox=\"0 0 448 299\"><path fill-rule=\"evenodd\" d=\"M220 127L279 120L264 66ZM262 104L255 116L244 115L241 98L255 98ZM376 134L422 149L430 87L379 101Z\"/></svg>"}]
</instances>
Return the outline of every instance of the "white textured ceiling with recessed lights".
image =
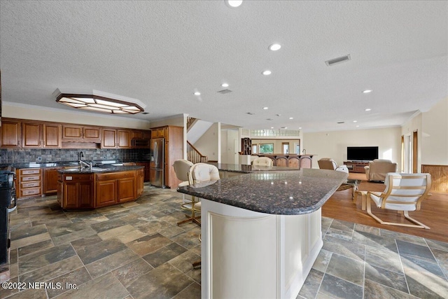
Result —
<instances>
[{"instance_id":1,"label":"white textured ceiling with recessed lights","mask_svg":"<svg viewBox=\"0 0 448 299\"><path fill-rule=\"evenodd\" d=\"M0 11L4 102L70 109L55 102L56 88L100 90L147 104L149 114L132 118L187 113L317 132L401 125L448 97L448 1L229 8L224 1L2 0ZM281 50L267 50L274 42ZM347 54L349 62L325 64ZM223 82L232 92L218 93Z\"/></svg>"}]
</instances>

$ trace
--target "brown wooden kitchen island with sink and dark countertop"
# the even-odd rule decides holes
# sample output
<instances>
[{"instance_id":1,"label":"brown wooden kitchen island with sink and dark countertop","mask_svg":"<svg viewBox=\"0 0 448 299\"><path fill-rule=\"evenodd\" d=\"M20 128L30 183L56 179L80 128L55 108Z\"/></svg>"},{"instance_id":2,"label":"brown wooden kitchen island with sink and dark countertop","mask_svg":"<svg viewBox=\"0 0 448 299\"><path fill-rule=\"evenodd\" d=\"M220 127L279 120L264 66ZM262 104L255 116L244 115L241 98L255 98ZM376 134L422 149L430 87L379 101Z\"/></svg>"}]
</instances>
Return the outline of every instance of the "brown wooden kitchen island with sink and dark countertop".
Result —
<instances>
[{"instance_id":1,"label":"brown wooden kitchen island with sink and dark countertop","mask_svg":"<svg viewBox=\"0 0 448 299\"><path fill-rule=\"evenodd\" d=\"M62 209L94 209L137 200L143 193L143 166L58 169L57 202Z\"/></svg>"}]
</instances>

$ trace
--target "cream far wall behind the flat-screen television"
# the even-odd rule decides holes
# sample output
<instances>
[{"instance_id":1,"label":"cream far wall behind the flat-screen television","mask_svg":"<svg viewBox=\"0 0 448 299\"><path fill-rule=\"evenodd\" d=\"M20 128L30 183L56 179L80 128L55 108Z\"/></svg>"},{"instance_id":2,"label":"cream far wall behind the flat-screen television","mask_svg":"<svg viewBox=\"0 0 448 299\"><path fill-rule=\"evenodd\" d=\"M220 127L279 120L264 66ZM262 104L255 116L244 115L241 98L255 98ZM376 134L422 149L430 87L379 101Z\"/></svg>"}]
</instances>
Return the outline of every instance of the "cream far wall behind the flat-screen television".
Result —
<instances>
[{"instance_id":1,"label":"cream far wall behind the flat-screen television","mask_svg":"<svg viewBox=\"0 0 448 299\"><path fill-rule=\"evenodd\" d=\"M338 165L342 164L347 158L347 146L378 146L380 159L392 160L398 163L398 169L401 167L400 127L304 133L303 140L306 146L302 148L316 155L313 168L318 168L320 158L332 158Z\"/></svg>"}]
</instances>

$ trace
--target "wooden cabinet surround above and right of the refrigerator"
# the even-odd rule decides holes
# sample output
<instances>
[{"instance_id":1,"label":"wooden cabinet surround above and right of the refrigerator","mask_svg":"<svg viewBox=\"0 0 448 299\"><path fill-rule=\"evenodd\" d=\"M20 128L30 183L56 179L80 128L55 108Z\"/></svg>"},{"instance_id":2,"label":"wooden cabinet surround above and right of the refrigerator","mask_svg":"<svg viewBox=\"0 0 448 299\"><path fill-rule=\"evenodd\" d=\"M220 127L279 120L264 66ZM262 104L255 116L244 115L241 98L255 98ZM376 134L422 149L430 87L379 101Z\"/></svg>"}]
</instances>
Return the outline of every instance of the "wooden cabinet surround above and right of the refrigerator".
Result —
<instances>
[{"instance_id":1,"label":"wooden cabinet surround above and right of the refrigerator","mask_svg":"<svg viewBox=\"0 0 448 299\"><path fill-rule=\"evenodd\" d=\"M165 138L165 186L177 188L179 179L174 172L174 161L183 159L183 127L167 125L151 128L151 137Z\"/></svg>"}]
</instances>

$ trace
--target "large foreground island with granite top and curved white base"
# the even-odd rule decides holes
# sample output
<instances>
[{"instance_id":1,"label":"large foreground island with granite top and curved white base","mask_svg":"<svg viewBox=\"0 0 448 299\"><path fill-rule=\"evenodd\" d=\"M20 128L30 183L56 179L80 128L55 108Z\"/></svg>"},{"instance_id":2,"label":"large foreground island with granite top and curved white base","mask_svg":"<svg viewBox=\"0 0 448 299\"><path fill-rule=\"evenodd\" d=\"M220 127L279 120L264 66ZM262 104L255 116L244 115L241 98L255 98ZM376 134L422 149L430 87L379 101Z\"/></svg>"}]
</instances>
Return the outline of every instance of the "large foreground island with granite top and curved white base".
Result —
<instances>
[{"instance_id":1,"label":"large foreground island with granite top and curved white base","mask_svg":"<svg viewBox=\"0 0 448 299\"><path fill-rule=\"evenodd\" d=\"M323 246L321 207L347 174L250 170L178 188L202 198L202 298L296 298Z\"/></svg>"}]
</instances>

